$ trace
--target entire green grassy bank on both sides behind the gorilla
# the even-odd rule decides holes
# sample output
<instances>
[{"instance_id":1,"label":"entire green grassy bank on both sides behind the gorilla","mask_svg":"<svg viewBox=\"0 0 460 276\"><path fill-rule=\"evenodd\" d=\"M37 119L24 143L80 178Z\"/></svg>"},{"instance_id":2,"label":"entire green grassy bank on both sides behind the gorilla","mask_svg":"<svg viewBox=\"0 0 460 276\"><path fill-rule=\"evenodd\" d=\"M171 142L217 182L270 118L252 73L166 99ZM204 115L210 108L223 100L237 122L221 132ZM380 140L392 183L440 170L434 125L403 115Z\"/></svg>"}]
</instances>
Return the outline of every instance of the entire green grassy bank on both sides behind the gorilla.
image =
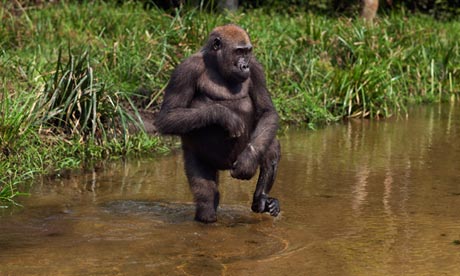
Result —
<instances>
[{"instance_id":1,"label":"entire green grassy bank on both sides behind the gorilla","mask_svg":"<svg viewBox=\"0 0 460 276\"><path fill-rule=\"evenodd\" d=\"M164 151L142 119L151 121L174 66L228 22L249 31L286 125L404 114L460 92L460 23L404 10L369 24L300 10L171 15L130 2L4 2L0 17L4 202L37 173Z\"/></svg>"}]
</instances>

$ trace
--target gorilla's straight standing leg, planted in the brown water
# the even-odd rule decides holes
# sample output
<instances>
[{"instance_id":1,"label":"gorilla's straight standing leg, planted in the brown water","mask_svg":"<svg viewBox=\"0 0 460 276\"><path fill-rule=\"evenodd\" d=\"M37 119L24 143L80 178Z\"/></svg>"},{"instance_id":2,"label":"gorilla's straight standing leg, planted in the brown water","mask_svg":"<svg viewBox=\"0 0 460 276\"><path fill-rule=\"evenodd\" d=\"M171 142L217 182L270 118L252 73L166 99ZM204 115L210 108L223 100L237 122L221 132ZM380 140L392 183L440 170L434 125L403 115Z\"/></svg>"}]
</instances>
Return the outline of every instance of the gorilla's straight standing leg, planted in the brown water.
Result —
<instances>
[{"instance_id":1,"label":"gorilla's straight standing leg, planted in the brown water","mask_svg":"<svg viewBox=\"0 0 460 276\"><path fill-rule=\"evenodd\" d=\"M219 191L218 172L184 150L185 174L196 203L195 220L210 223L217 220Z\"/></svg>"}]
</instances>

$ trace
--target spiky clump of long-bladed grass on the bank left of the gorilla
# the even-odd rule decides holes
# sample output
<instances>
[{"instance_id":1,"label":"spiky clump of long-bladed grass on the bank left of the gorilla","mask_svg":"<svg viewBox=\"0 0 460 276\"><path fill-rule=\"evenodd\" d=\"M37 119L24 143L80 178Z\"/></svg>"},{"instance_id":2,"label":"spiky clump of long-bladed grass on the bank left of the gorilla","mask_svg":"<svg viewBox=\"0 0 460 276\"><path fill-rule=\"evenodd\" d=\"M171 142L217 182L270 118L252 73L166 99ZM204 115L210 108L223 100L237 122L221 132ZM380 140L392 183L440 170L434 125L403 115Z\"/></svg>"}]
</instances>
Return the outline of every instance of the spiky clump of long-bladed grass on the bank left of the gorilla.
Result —
<instances>
[{"instance_id":1,"label":"spiky clump of long-bladed grass on the bank left of the gorilla","mask_svg":"<svg viewBox=\"0 0 460 276\"><path fill-rule=\"evenodd\" d=\"M61 54L59 50L56 70L40 95L41 127L99 143L117 139L119 132L126 141L130 124L142 127L126 93L107 89L95 78L88 52L74 56L69 51L67 64ZM122 103L129 105L132 114Z\"/></svg>"}]
</instances>

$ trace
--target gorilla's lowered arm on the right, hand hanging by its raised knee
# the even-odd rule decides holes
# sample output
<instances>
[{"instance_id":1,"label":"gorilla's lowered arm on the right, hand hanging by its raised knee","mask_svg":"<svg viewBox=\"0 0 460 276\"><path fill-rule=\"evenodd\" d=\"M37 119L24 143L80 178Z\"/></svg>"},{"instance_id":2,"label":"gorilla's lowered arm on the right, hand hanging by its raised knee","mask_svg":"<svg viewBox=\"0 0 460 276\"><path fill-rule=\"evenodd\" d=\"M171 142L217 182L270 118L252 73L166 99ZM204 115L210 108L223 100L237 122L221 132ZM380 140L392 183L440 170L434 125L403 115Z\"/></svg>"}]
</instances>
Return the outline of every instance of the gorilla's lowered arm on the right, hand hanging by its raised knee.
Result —
<instances>
[{"instance_id":1,"label":"gorilla's lowered arm on the right, hand hanging by its raised knee","mask_svg":"<svg viewBox=\"0 0 460 276\"><path fill-rule=\"evenodd\" d=\"M256 111L256 126L250 142L233 164L232 176L238 179L250 179L256 173L261 156L271 145L278 130L279 117L266 88L262 65L251 65L250 96Z\"/></svg>"}]
</instances>

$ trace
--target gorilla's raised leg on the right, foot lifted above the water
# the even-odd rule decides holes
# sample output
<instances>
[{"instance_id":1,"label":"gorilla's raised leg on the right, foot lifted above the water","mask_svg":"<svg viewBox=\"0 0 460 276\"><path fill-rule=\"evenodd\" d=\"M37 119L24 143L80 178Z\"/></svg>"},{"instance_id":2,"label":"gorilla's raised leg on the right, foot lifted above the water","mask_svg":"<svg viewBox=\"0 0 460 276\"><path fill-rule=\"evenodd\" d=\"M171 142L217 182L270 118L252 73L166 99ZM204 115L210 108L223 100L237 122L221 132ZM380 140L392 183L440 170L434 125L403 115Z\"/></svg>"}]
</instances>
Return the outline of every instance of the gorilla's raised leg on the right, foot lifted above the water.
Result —
<instances>
[{"instance_id":1,"label":"gorilla's raised leg on the right, foot lifted above the water","mask_svg":"<svg viewBox=\"0 0 460 276\"><path fill-rule=\"evenodd\" d=\"M280 143L275 139L260 159L260 174L251 206L252 211L256 213L269 212L276 217L280 212L278 199L268 196L275 182L280 157Z\"/></svg>"}]
</instances>

